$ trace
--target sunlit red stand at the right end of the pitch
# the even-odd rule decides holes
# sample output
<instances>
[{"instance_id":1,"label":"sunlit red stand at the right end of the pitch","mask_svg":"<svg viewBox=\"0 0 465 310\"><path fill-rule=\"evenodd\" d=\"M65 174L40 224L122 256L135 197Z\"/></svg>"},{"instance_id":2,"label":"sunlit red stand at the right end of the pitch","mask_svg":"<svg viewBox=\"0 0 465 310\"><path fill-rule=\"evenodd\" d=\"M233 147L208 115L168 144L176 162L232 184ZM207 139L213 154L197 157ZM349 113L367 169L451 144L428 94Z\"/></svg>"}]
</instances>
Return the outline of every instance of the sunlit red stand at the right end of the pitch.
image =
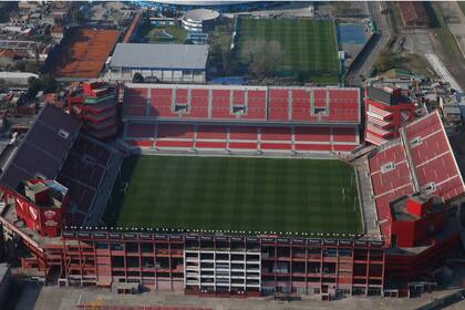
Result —
<instances>
[{"instance_id":1,"label":"sunlit red stand at the right end of the pitch","mask_svg":"<svg viewBox=\"0 0 465 310\"><path fill-rule=\"evenodd\" d=\"M438 112L400 130L400 138L369 157L371 182L381 231L389 235L389 204L403 195L422 192L446 200L461 198L465 185ZM390 240L386 240L388 242Z\"/></svg>"}]
</instances>

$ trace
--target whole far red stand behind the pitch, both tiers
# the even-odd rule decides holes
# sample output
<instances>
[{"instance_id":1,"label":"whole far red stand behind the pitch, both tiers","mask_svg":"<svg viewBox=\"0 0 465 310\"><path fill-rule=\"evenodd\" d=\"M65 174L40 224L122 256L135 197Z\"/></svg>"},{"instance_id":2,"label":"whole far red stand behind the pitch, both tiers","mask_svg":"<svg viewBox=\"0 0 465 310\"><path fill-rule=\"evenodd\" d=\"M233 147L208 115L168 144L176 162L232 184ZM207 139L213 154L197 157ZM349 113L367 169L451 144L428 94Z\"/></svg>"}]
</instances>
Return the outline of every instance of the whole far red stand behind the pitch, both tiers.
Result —
<instances>
[{"instance_id":1,"label":"whole far red stand behind the pitch, both tiers","mask_svg":"<svg viewBox=\"0 0 465 310\"><path fill-rule=\"evenodd\" d=\"M175 149L350 152L358 89L126 84L123 140Z\"/></svg>"}]
</instances>

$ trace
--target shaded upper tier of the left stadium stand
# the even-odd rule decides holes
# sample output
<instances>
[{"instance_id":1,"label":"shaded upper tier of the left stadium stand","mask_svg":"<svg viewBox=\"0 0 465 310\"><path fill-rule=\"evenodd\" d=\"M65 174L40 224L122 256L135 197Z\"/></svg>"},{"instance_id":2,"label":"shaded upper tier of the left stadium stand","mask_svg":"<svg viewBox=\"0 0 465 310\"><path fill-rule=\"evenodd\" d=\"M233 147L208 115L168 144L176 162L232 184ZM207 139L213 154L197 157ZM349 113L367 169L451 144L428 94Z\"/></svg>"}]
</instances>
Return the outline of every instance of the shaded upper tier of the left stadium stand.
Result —
<instances>
[{"instance_id":1,"label":"shaded upper tier of the left stadium stand","mask_svg":"<svg viewBox=\"0 0 465 310\"><path fill-rule=\"evenodd\" d=\"M45 105L0 175L0 182L17 188L20 180L28 178L56 178L81 125L79 118Z\"/></svg>"}]
</instances>

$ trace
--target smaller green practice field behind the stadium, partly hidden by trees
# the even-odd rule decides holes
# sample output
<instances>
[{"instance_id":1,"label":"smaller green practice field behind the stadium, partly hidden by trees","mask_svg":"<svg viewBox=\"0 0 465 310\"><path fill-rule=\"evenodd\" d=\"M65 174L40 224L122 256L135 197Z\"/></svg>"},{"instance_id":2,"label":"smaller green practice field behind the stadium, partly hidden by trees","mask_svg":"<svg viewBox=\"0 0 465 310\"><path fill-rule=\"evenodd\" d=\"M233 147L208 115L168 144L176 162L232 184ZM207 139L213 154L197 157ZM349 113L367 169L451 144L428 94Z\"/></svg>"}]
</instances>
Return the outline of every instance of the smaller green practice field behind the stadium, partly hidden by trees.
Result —
<instances>
[{"instance_id":1,"label":"smaller green practice field behind the stadium, partly hidden by trees","mask_svg":"<svg viewBox=\"0 0 465 310\"><path fill-rule=\"evenodd\" d=\"M335 24L332 20L238 19L238 55L247 42L265 39L278 41L283 51L278 70L299 72L317 82L338 82L340 62Z\"/></svg>"}]
</instances>

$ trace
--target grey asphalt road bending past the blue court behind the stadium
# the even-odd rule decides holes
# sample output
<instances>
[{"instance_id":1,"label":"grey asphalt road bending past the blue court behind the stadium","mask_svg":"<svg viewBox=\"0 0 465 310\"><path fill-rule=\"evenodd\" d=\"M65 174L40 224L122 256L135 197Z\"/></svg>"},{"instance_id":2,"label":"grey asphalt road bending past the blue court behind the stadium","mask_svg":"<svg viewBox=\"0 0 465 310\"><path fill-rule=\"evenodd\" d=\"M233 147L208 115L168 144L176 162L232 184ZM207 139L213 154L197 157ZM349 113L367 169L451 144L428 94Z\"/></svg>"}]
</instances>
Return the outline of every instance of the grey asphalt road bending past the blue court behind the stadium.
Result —
<instances>
[{"instance_id":1,"label":"grey asphalt road bending past the blue court behind the stadium","mask_svg":"<svg viewBox=\"0 0 465 310\"><path fill-rule=\"evenodd\" d=\"M347 75L347 83L349 85L362 85L362 80L360 74L368 76L372 70L374 62L376 61L378 54L380 51L388 44L391 39L391 24L389 20L389 14L381 14L379 1L369 1L368 9L370 17L374 24L376 25L378 33L372 39L370 45L366 46L363 54L360 54L360 58L356 62L353 63L351 70Z\"/></svg>"}]
</instances>

